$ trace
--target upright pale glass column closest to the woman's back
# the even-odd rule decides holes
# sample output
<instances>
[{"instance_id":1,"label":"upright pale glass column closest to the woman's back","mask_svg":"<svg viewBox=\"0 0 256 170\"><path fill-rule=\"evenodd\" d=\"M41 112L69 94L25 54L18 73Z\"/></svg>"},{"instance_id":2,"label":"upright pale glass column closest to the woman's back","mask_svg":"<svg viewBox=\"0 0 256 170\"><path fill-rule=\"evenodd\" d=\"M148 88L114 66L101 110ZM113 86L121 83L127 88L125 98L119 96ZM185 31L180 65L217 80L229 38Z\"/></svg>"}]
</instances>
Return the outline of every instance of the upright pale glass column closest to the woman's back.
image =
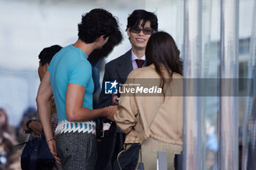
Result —
<instances>
[{"instance_id":1,"label":"upright pale glass column closest to the woman's back","mask_svg":"<svg viewBox=\"0 0 256 170\"><path fill-rule=\"evenodd\" d=\"M202 77L202 1L184 1L184 169L203 168L202 98L197 81ZM195 96L188 96L189 91Z\"/></svg>"}]
</instances>

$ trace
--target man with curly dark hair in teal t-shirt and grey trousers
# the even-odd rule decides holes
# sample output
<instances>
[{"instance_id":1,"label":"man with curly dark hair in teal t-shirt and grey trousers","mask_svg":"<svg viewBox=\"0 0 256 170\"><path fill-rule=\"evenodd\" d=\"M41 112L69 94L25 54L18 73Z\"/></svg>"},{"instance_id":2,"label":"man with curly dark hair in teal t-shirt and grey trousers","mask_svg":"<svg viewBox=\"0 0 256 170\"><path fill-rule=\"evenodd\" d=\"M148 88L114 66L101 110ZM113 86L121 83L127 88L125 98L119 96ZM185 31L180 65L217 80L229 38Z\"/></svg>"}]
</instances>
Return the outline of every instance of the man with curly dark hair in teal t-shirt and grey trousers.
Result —
<instances>
[{"instance_id":1,"label":"man with curly dark hair in teal t-shirt and grey trousers","mask_svg":"<svg viewBox=\"0 0 256 170\"><path fill-rule=\"evenodd\" d=\"M50 152L62 169L94 169L97 159L96 117L113 120L116 107L93 109L94 82L88 56L116 34L118 23L105 9L92 9L78 24L78 41L62 48L48 66L37 93L37 107ZM59 123L50 126L51 96Z\"/></svg>"}]
</instances>

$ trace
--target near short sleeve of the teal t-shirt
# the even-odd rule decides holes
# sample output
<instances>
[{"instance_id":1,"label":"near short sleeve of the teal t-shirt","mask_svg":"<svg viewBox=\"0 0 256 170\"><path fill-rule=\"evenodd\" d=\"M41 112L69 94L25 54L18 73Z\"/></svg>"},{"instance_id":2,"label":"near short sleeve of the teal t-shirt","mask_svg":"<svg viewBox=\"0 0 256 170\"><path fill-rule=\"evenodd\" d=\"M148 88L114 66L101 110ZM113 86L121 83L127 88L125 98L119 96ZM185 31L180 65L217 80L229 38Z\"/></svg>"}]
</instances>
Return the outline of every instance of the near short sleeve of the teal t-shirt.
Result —
<instances>
[{"instance_id":1,"label":"near short sleeve of the teal t-shirt","mask_svg":"<svg viewBox=\"0 0 256 170\"><path fill-rule=\"evenodd\" d=\"M89 61L79 61L75 63L69 71L69 84L86 85L91 80L91 63Z\"/></svg>"}]
</instances>

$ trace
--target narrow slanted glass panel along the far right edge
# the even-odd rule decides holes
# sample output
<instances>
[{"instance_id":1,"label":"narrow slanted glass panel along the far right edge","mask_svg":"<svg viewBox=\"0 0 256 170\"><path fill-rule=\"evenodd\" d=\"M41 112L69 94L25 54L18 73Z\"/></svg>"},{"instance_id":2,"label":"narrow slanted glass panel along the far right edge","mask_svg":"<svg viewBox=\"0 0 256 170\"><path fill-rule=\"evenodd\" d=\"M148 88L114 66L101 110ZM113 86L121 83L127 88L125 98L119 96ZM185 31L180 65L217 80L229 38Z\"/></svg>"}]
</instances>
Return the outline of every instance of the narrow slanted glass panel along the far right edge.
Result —
<instances>
[{"instance_id":1,"label":"narrow slanted glass panel along the far right edge","mask_svg":"<svg viewBox=\"0 0 256 170\"><path fill-rule=\"evenodd\" d=\"M248 86L252 97L246 99L246 109L243 126L243 157L242 169L256 169L256 2L253 9L252 36L249 48L249 61L247 77L253 79L252 87Z\"/></svg>"}]
</instances>

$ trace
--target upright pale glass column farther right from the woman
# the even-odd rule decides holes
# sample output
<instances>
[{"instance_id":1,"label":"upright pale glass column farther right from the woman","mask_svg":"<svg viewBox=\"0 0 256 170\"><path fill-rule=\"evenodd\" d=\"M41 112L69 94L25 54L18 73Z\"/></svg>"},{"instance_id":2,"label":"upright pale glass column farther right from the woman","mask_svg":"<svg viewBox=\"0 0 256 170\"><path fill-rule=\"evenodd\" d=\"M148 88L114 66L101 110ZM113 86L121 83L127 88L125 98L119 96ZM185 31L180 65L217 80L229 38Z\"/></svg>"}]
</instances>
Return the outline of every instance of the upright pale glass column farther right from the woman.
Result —
<instances>
[{"instance_id":1,"label":"upright pale glass column farther right from the woman","mask_svg":"<svg viewBox=\"0 0 256 170\"><path fill-rule=\"evenodd\" d=\"M220 115L219 169L238 169L238 103L236 96L222 96L229 90L238 92L236 81L224 84L225 79L238 78L238 1L221 1L220 51Z\"/></svg>"}]
</instances>

